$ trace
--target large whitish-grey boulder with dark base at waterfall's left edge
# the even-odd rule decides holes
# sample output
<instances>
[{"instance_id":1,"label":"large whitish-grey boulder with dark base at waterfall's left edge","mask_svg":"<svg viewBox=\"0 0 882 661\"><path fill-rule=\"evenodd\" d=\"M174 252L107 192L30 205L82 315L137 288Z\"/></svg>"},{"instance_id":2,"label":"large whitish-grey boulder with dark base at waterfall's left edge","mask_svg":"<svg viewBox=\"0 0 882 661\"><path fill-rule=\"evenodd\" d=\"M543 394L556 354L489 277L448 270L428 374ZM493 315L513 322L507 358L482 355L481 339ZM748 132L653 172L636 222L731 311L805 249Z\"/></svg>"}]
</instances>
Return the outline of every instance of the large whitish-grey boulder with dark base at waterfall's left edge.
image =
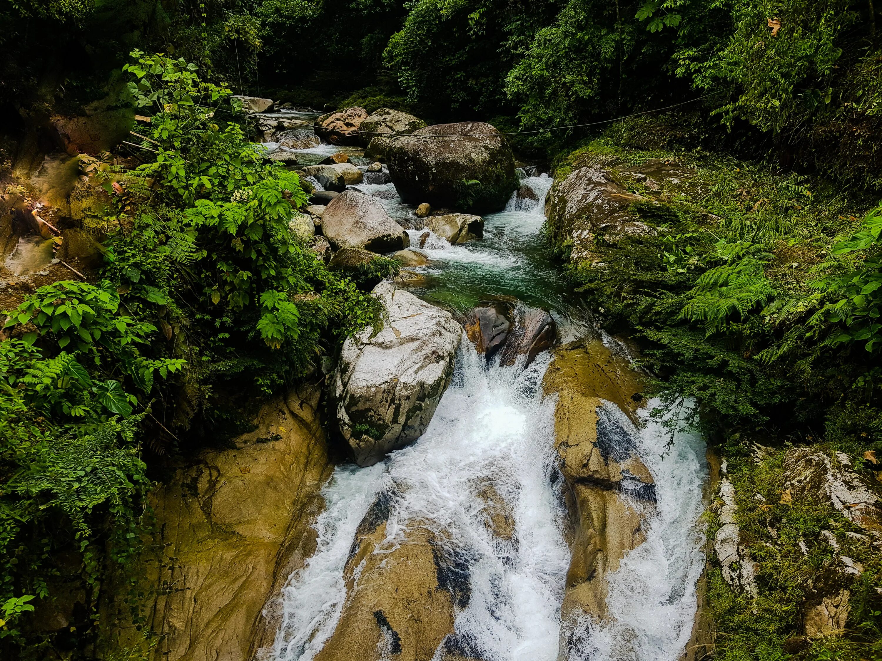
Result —
<instances>
[{"instance_id":1,"label":"large whitish-grey boulder with dark base at waterfall's left edge","mask_svg":"<svg viewBox=\"0 0 882 661\"><path fill-rule=\"evenodd\" d=\"M462 328L449 312L381 282L374 295L383 329L348 338L331 395L340 434L355 463L370 466L414 442L429 426L450 384Z\"/></svg>"}]
</instances>

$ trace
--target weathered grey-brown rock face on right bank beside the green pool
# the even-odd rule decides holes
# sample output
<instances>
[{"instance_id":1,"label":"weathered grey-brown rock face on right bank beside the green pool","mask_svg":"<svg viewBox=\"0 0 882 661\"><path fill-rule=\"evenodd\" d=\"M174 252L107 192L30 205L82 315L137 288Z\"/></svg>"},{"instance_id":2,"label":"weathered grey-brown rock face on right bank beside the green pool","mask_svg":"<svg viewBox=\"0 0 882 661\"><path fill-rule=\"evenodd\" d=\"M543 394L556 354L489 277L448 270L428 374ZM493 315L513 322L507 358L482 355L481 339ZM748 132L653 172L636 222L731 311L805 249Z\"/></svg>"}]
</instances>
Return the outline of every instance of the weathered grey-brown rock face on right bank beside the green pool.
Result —
<instances>
[{"instance_id":1,"label":"weathered grey-brown rock face on right bank beside the green pool","mask_svg":"<svg viewBox=\"0 0 882 661\"><path fill-rule=\"evenodd\" d=\"M629 212L633 203L645 199L625 189L612 169L576 168L563 179L556 177L545 198L551 238L557 244L572 241L574 261L596 263L593 247L598 237L613 242L627 234L654 232Z\"/></svg>"}]
</instances>

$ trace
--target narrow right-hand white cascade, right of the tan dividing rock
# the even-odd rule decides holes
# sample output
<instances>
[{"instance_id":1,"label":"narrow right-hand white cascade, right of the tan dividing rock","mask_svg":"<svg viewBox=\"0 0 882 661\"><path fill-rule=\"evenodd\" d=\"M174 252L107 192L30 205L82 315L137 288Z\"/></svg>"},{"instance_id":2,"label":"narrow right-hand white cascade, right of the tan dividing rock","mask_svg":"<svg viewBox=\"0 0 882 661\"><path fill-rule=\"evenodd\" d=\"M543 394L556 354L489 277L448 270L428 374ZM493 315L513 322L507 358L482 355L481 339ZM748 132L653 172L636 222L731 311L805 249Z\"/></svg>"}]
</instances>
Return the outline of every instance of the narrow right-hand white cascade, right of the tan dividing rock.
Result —
<instances>
[{"instance_id":1,"label":"narrow right-hand white cascade, right of the tan dividing rock","mask_svg":"<svg viewBox=\"0 0 882 661\"><path fill-rule=\"evenodd\" d=\"M658 405L650 401L647 408ZM621 421L627 424L624 416ZM646 420L636 438L655 479L657 509L647 521L646 541L609 575L609 620L579 623L573 661L676 661L691 636L696 583L705 561L699 524L705 442L699 434L683 432L671 439L659 420Z\"/></svg>"}]
</instances>

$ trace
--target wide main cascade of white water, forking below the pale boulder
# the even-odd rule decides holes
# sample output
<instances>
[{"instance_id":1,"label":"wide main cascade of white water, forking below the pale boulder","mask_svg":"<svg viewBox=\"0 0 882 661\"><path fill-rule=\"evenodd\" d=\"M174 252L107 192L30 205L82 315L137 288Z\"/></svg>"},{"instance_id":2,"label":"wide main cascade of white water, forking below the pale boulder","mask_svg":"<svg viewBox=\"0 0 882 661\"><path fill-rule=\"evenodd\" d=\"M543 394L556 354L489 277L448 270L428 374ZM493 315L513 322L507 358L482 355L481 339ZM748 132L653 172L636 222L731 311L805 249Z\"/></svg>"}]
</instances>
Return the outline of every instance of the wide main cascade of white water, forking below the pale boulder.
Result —
<instances>
[{"instance_id":1,"label":"wide main cascade of white water, forking below the pale boulder","mask_svg":"<svg viewBox=\"0 0 882 661\"><path fill-rule=\"evenodd\" d=\"M463 342L456 375L426 433L387 464L338 468L325 488L319 551L284 590L278 661L307 661L340 617L342 574L358 520L370 500L395 485L386 524L388 551L407 526L430 521L449 553L468 559L471 595L456 619L460 646L487 659L552 661L569 550L552 446L554 403L542 401L549 356L523 370L487 368ZM363 477L365 475L365 477ZM515 540L485 526L488 484L509 504Z\"/></svg>"}]
</instances>

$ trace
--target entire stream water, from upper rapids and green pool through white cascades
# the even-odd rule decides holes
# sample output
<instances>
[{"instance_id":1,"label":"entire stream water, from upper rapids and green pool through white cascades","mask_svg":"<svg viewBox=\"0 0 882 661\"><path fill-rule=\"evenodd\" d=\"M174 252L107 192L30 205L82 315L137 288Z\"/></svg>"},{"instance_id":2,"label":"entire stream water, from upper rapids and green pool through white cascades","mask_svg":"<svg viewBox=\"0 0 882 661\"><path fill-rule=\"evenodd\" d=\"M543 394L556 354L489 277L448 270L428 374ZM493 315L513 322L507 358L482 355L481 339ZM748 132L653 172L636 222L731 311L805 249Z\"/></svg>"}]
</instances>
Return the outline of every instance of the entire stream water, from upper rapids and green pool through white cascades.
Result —
<instances>
[{"instance_id":1,"label":"entire stream water, from upper rapids and green pool through white cascades","mask_svg":"<svg viewBox=\"0 0 882 661\"><path fill-rule=\"evenodd\" d=\"M332 151L340 148L320 145L302 152L312 160ZM358 152L351 157L361 167L368 163L357 158ZM512 296L549 309L561 342L596 337L589 312L568 295L542 239L551 179L520 174L538 200L512 197L505 211L486 216L482 241L451 246L431 234L422 250L429 264L414 270L421 277L408 288L458 312L489 296ZM391 183L355 188L382 199L393 218L415 220L414 208L401 202ZM415 248L422 231L408 232ZM601 337L621 352L615 340ZM561 643L570 549L564 480L553 448L555 401L542 395L549 362L546 352L528 368L523 359L512 366L498 360L488 365L464 337L452 383L425 434L385 462L336 468L322 492L325 510L315 524L318 549L282 592L275 661L309 661L333 634L346 598L344 567L356 529L382 494L391 499L383 551L402 543L404 531L418 522L430 526L449 546L445 551L466 566L470 597L457 609L454 634L439 646L435 659L445 654L484 661L682 657L704 568L704 531L698 521L704 511L705 444L696 434L671 438L659 420L648 419L653 402L644 408L639 427L609 405L615 409L611 419L632 435L654 476L657 507L647 512L646 542L625 555L609 576L609 619L579 620ZM511 512L510 540L493 535L484 524L486 500L479 493L487 484Z\"/></svg>"}]
</instances>

